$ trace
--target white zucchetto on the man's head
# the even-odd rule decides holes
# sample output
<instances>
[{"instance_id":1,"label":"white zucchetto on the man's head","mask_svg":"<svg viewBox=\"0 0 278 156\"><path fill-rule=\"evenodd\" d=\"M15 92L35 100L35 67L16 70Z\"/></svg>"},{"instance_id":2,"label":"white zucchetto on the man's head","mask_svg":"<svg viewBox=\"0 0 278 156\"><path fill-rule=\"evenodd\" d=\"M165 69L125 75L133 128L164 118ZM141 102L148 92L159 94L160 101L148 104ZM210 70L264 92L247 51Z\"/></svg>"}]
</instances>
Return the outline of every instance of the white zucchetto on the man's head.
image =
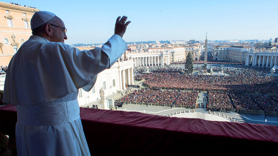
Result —
<instances>
[{"instance_id":1,"label":"white zucchetto on the man's head","mask_svg":"<svg viewBox=\"0 0 278 156\"><path fill-rule=\"evenodd\" d=\"M52 19L54 16L55 16L55 14L53 14L52 12L48 12L48 11L35 12L30 21L31 30L38 28L39 26L45 24L50 19Z\"/></svg>"}]
</instances>

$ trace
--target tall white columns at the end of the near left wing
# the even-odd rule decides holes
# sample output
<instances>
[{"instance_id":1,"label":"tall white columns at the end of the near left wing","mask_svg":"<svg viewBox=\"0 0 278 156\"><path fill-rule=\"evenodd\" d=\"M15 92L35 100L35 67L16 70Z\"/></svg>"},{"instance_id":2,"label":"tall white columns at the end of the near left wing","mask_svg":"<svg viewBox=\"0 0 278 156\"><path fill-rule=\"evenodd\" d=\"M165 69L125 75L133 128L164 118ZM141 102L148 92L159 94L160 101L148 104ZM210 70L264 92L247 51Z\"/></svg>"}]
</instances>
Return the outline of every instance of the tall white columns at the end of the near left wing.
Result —
<instances>
[{"instance_id":1,"label":"tall white columns at the end of the near left wing","mask_svg":"<svg viewBox=\"0 0 278 156\"><path fill-rule=\"evenodd\" d=\"M126 85L134 85L133 67L128 69L119 69L119 80L121 89L126 89Z\"/></svg>"}]
</instances>

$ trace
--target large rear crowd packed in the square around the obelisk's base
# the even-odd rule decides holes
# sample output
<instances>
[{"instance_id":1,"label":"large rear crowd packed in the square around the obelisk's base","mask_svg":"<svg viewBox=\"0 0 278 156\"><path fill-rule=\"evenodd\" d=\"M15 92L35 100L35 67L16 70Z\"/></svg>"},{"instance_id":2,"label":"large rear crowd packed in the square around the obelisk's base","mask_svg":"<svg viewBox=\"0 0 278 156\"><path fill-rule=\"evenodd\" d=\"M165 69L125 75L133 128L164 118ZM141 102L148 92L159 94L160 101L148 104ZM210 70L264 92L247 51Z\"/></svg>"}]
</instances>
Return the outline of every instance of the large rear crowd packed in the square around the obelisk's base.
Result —
<instances>
[{"instance_id":1,"label":"large rear crowd packed in the square around the obelisk's base","mask_svg":"<svg viewBox=\"0 0 278 156\"><path fill-rule=\"evenodd\" d=\"M153 73L137 74L135 79L145 79L144 85L152 88L184 90L222 90L242 92L278 92L276 77L260 76L251 69L228 69L231 76L184 75L159 69Z\"/></svg>"}]
</instances>

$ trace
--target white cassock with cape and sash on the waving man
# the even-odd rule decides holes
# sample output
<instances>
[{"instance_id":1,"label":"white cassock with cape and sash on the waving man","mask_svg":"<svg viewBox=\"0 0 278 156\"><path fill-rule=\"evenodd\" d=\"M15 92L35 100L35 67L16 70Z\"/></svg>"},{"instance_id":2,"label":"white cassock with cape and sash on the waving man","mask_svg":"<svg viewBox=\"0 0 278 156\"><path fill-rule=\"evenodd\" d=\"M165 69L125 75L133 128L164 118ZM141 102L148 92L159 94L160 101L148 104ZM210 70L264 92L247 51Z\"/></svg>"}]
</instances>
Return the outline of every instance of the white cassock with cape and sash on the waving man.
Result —
<instances>
[{"instance_id":1,"label":"white cassock with cape and sash on the waving man","mask_svg":"<svg viewBox=\"0 0 278 156\"><path fill-rule=\"evenodd\" d=\"M13 56L3 102L17 107L16 147L21 155L90 155L77 101L97 74L127 50L113 35L102 48L78 50L33 35Z\"/></svg>"}]
</instances>

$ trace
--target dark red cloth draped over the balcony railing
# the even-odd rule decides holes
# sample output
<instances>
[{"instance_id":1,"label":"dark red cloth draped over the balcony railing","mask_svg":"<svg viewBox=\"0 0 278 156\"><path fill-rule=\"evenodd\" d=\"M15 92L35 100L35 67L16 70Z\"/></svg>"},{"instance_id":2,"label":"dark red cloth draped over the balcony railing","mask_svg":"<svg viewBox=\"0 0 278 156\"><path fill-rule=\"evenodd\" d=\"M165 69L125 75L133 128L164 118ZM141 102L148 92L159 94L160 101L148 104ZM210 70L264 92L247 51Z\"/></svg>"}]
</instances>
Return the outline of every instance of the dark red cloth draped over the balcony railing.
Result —
<instances>
[{"instance_id":1,"label":"dark red cloth draped over the balcony railing","mask_svg":"<svg viewBox=\"0 0 278 156\"><path fill-rule=\"evenodd\" d=\"M165 117L138 112L80 108L94 154L173 154L173 150L275 150L278 127L263 124ZM15 134L16 108L0 107L0 131Z\"/></svg>"}]
</instances>

